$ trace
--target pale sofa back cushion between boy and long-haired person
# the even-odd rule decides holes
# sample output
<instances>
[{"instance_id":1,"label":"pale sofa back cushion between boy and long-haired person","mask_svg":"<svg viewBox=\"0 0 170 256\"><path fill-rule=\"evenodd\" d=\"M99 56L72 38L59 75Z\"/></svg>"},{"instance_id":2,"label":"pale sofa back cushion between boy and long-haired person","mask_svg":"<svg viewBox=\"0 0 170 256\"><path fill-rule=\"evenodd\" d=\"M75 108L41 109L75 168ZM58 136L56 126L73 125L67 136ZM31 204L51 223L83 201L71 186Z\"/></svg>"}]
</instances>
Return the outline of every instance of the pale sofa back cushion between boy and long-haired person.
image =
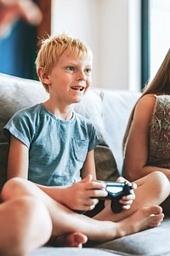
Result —
<instances>
[{"instance_id":1,"label":"pale sofa back cushion between boy and long-haired person","mask_svg":"<svg viewBox=\"0 0 170 256\"><path fill-rule=\"evenodd\" d=\"M103 93L105 143L111 148L117 169L122 175L122 139L127 127L128 117L140 93L129 90L109 89L101 89L101 92Z\"/></svg>"}]
</instances>

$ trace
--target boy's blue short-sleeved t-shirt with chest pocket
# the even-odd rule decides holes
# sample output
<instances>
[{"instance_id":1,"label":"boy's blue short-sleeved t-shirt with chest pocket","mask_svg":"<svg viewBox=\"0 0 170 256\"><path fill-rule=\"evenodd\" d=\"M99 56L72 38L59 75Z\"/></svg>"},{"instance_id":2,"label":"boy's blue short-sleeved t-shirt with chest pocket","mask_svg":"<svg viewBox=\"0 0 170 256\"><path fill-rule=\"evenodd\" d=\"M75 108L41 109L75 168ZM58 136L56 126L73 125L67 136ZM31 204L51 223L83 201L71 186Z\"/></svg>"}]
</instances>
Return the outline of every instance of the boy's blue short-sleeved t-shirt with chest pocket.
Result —
<instances>
[{"instance_id":1,"label":"boy's blue short-sleeved t-shirt with chest pocket","mask_svg":"<svg viewBox=\"0 0 170 256\"><path fill-rule=\"evenodd\" d=\"M67 186L81 180L88 151L100 143L94 125L73 112L58 119L42 103L15 113L3 128L29 148L28 179L47 186Z\"/></svg>"}]
</instances>

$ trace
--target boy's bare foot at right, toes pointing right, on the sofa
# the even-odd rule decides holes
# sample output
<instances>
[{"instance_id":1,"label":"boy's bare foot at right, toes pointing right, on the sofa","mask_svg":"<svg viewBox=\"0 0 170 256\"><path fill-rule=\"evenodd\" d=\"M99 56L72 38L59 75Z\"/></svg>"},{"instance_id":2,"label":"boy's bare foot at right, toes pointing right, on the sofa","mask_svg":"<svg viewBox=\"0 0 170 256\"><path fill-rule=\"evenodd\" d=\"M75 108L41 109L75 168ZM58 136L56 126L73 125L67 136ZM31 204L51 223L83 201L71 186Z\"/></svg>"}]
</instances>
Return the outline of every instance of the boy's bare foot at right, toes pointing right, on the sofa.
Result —
<instances>
[{"instance_id":1,"label":"boy's bare foot at right, toes pointing right, on the sofa","mask_svg":"<svg viewBox=\"0 0 170 256\"><path fill-rule=\"evenodd\" d=\"M159 206L143 207L132 216L121 221L122 234L127 236L141 230L157 227L164 218L162 208Z\"/></svg>"}]
</instances>

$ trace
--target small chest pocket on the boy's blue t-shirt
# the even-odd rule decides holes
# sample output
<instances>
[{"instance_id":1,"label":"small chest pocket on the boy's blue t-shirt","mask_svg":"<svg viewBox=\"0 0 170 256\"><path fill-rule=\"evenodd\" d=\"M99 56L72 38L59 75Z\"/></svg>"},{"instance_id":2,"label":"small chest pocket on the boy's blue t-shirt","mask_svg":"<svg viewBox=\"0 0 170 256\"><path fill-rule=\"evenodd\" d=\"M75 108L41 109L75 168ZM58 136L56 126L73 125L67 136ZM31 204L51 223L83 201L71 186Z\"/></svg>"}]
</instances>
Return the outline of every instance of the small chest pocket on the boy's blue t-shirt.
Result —
<instances>
[{"instance_id":1,"label":"small chest pocket on the boy's blue t-shirt","mask_svg":"<svg viewBox=\"0 0 170 256\"><path fill-rule=\"evenodd\" d=\"M83 162L88 154L88 140L72 139L72 149L76 160Z\"/></svg>"}]
</instances>

